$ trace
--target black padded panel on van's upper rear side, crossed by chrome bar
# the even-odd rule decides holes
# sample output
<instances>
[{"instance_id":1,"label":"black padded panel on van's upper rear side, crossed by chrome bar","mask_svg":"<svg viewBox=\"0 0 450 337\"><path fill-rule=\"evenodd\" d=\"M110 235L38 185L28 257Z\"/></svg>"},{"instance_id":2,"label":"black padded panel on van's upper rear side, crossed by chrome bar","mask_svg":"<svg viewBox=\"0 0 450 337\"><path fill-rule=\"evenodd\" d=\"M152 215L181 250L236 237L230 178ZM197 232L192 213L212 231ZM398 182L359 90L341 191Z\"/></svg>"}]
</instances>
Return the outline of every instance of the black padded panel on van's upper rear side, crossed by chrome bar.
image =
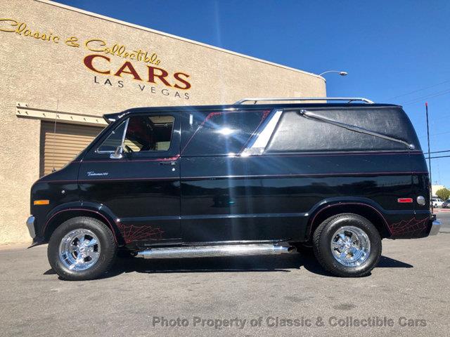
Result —
<instances>
[{"instance_id":1,"label":"black padded panel on van's upper rear side, crossed by chrome bar","mask_svg":"<svg viewBox=\"0 0 450 337\"><path fill-rule=\"evenodd\" d=\"M341 123L359 126L386 136L416 144L411 122L397 109L310 110ZM265 153L312 151L407 150L401 143L302 117L285 111Z\"/></svg>"}]
</instances>

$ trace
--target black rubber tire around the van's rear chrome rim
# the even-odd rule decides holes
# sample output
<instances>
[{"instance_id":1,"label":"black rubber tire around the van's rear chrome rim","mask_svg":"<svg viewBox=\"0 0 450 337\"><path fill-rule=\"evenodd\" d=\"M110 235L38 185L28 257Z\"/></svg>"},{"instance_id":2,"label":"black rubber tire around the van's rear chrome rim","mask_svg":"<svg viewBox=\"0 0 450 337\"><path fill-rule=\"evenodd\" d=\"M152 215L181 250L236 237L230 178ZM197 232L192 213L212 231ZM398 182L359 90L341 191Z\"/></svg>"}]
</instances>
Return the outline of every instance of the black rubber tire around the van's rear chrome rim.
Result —
<instances>
[{"instance_id":1,"label":"black rubber tire around the van's rear chrome rim","mask_svg":"<svg viewBox=\"0 0 450 337\"><path fill-rule=\"evenodd\" d=\"M340 263L330 247L333 235L344 226L357 227L368 237L370 251L360 265L347 266ZM375 226L366 218L353 213L342 213L326 219L317 227L313 236L313 248L316 259L328 272L340 277L361 277L368 275L378 265L381 237Z\"/></svg>"}]
</instances>

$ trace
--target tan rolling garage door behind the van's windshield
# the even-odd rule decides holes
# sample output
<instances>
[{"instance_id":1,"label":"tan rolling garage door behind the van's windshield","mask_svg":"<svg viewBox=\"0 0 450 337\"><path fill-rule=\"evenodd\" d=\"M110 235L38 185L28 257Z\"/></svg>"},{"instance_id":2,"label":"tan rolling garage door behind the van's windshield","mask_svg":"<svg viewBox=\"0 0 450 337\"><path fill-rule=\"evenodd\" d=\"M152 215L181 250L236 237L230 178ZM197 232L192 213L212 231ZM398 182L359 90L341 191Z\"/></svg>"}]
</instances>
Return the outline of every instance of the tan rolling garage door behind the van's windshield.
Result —
<instances>
[{"instance_id":1,"label":"tan rolling garage door behind the van's windshield","mask_svg":"<svg viewBox=\"0 0 450 337\"><path fill-rule=\"evenodd\" d=\"M104 126L55 124L41 121L41 169L40 175L63 167L103 130Z\"/></svg>"}]
</instances>

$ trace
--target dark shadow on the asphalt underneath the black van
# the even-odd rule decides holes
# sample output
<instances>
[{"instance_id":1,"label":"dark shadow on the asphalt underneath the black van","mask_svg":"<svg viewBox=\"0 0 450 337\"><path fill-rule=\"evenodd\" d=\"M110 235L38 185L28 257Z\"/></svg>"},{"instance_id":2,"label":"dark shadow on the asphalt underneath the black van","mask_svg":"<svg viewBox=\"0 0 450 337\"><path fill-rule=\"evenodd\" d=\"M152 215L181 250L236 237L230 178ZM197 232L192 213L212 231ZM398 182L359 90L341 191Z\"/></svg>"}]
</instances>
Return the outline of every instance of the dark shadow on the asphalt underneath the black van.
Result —
<instances>
[{"instance_id":1,"label":"dark shadow on the asphalt underneath the black van","mask_svg":"<svg viewBox=\"0 0 450 337\"><path fill-rule=\"evenodd\" d=\"M172 272L291 272L301 268L314 274L334 277L323 270L312 253L292 253L282 256L236 256L224 258L181 258L144 259L118 258L115 266L103 278L115 277L129 272L172 273ZM378 267L412 268L387 256L381 256ZM44 275L54 274L47 270ZM370 274L369 274L370 275Z\"/></svg>"}]
</instances>

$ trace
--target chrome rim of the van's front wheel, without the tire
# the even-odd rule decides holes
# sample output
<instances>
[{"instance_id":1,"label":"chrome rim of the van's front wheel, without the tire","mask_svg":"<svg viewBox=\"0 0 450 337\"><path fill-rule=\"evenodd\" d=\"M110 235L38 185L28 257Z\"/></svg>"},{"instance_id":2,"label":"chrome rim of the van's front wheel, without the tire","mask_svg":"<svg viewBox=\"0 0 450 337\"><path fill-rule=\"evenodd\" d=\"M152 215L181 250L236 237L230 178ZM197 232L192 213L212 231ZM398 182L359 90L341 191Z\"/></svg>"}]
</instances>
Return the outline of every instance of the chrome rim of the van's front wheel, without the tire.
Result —
<instances>
[{"instance_id":1,"label":"chrome rim of the van's front wheel, without the tire","mask_svg":"<svg viewBox=\"0 0 450 337\"><path fill-rule=\"evenodd\" d=\"M99 256L100 242L90 230L72 230L65 234L59 245L59 258L70 270L89 269Z\"/></svg>"}]
</instances>

